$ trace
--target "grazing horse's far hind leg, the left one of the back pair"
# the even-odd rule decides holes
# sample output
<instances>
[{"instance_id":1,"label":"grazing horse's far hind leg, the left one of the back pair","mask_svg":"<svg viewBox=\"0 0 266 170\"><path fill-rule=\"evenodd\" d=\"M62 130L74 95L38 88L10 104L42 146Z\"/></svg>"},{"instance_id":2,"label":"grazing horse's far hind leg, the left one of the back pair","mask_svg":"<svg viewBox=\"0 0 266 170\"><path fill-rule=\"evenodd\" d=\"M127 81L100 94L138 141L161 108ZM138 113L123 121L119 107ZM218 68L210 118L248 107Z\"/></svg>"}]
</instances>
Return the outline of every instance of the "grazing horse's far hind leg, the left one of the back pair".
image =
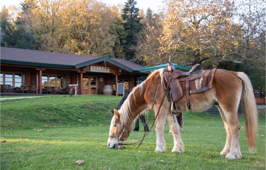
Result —
<instances>
[{"instance_id":1,"label":"grazing horse's far hind leg, the left one of the back pair","mask_svg":"<svg viewBox=\"0 0 266 170\"><path fill-rule=\"evenodd\" d=\"M229 125L228 125L228 123L226 121L226 118L225 118L225 115L224 115L224 112L223 112L222 108L219 105L216 105L216 107L220 111L220 115L221 115L221 117L222 117L222 119L224 121L224 128L225 128L226 133L227 133L224 149L220 152L220 155L226 156L229 153L230 146L231 146L231 133L230 133Z\"/></svg>"}]
</instances>

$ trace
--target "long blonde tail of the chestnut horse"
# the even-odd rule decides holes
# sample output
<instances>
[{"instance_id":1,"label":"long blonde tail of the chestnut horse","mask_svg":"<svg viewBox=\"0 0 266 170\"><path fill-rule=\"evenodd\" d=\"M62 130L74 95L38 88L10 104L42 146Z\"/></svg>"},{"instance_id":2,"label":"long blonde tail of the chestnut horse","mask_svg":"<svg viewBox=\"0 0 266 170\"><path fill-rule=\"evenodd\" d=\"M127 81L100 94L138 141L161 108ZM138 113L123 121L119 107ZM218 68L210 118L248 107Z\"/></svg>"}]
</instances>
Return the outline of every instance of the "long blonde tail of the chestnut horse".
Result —
<instances>
[{"instance_id":1,"label":"long blonde tail of the chestnut horse","mask_svg":"<svg viewBox=\"0 0 266 170\"><path fill-rule=\"evenodd\" d=\"M243 73L238 72L237 76L242 80L242 96L241 104L244 112L246 123L246 138L249 148L249 152L253 153L257 151L257 124L258 124L258 112L256 106L255 96L253 94L253 87L249 80L249 77Z\"/></svg>"}]
</instances>

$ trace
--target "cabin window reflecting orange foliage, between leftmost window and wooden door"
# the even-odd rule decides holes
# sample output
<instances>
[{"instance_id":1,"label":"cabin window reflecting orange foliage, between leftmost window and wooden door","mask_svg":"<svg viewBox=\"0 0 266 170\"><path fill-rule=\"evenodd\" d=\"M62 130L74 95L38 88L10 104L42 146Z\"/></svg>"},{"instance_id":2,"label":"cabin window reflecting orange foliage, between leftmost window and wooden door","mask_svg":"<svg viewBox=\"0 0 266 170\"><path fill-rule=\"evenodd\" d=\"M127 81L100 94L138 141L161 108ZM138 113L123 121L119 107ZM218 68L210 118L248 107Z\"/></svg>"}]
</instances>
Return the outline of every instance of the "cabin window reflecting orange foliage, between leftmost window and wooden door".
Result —
<instances>
[{"instance_id":1,"label":"cabin window reflecting orange foliage, between leftmost window and wooden door","mask_svg":"<svg viewBox=\"0 0 266 170\"><path fill-rule=\"evenodd\" d=\"M45 86L63 88L63 76L44 74L42 76L42 88L44 88Z\"/></svg>"}]
</instances>

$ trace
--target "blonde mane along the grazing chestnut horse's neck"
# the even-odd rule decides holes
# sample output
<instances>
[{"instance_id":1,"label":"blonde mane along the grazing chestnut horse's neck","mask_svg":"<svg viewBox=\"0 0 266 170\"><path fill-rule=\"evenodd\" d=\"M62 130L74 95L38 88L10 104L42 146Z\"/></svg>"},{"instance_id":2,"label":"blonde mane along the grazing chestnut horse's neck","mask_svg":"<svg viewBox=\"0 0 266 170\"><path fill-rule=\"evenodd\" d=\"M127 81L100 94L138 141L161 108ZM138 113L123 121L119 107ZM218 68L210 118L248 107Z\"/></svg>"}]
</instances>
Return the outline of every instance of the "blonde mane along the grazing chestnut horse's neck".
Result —
<instances>
[{"instance_id":1,"label":"blonde mane along the grazing chestnut horse's neck","mask_svg":"<svg viewBox=\"0 0 266 170\"><path fill-rule=\"evenodd\" d=\"M146 81L153 75L153 74L157 74L158 71L160 72L160 77L162 77L163 74L163 70L164 69L159 69L159 70L155 70L152 71L151 74L146 78L145 81L143 81L140 85L134 87L132 89L132 91L129 93L129 95L127 96L127 99L124 101L124 103L122 104L121 108L119 109L119 115L120 115L120 121L123 123L129 123L129 119L131 118L132 115L132 110L131 110L131 106L133 106L133 103L131 101L131 96L133 95L134 100L135 100L135 91L137 89L139 89L140 94L142 94L143 88L145 86ZM161 81L162 83L162 81ZM135 100L136 101L136 100ZM136 103L135 103L136 104Z\"/></svg>"}]
</instances>

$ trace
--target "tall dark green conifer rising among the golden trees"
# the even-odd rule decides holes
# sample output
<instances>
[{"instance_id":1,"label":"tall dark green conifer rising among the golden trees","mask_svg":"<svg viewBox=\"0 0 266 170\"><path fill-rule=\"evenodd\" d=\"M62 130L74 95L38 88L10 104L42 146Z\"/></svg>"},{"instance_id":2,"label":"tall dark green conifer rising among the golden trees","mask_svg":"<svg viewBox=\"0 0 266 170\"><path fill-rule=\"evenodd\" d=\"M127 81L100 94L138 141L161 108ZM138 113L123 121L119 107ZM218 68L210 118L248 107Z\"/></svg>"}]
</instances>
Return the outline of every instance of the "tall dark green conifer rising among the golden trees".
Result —
<instances>
[{"instance_id":1,"label":"tall dark green conifer rising among the golden trees","mask_svg":"<svg viewBox=\"0 0 266 170\"><path fill-rule=\"evenodd\" d=\"M125 6L122 9L122 19L124 21L124 29L127 32L127 36L124 43L125 59L132 60L135 58L134 47L137 46L138 39L136 35L142 29L142 24L139 17L139 9L135 7L137 2L135 0L127 0Z\"/></svg>"}]
</instances>

